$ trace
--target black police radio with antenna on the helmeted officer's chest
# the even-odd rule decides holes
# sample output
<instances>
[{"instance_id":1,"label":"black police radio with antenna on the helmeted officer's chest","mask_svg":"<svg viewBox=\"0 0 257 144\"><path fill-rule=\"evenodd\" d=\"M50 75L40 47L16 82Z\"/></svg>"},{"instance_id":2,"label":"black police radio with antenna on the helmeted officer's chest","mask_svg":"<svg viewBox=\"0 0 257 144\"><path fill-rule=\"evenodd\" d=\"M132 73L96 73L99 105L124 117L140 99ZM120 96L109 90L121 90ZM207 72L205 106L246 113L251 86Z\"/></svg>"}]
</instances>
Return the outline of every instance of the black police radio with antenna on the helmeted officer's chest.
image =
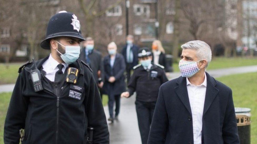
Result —
<instances>
[{"instance_id":1,"label":"black police radio with antenna on the helmeted officer's chest","mask_svg":"<svg viewBox=\"0 0 257 144\"><path fill-rule=\"evenodd\" d=\"M36 70L31 70L30 76L32 78L34 91L38 92L40 90L43 90L42 83L41 83L41 74L40 74L40 71L37 69L34 58L32 59L32 61L35 65Z\"/></svg>"}]
</instances>

